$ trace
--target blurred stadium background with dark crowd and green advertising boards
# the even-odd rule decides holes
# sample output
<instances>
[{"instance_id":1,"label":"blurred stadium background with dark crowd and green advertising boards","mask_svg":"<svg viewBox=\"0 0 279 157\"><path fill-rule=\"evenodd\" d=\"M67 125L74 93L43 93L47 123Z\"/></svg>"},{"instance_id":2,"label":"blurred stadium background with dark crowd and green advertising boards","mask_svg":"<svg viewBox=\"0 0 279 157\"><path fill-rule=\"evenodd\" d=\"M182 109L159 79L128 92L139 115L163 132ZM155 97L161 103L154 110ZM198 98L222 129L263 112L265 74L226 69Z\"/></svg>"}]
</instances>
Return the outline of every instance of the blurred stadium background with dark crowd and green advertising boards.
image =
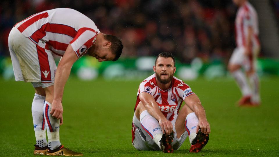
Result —
<instances>
[{"instance_id":1,"label":"blurred stadium background with dark crowd and green advertising boards","mask_svg":"<svg viewBox=\"0 0 279 157\"><path fill-rule=\"evenodd\" d=\"M250 0L257 10L262 50L260 76L279 75L279 1ZM8 35L18 21L43 10L73 8L90 17L103 33L119 36L124 44L117 62L98 63L84 56L72 68L80 79L146 78L155 56L172 52L181 79L229 76L228 59L235 48L234 19L237 7L231 0L15 0L0 2L0 75L13 79ZM56 57L59 61L59 57Z\"/></svg>"}]
</instances>

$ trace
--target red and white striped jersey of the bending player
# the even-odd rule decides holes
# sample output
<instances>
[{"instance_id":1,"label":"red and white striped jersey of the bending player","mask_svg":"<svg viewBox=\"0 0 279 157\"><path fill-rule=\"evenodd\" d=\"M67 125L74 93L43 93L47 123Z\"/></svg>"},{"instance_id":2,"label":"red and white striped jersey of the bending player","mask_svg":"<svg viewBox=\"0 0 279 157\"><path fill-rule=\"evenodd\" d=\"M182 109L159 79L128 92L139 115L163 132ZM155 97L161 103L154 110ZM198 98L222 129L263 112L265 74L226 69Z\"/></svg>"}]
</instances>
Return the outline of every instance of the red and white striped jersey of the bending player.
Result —
<instances>
[{"instance_id":1,"label":"red and white striped jersey of the bending player","mask_svg":"<svg viewBox=\"0 0 279 157\"><path fill-rule=\"evenodd\" d=\"M34 14L15 27L40 47L63 56L71 44L76 56L83 56L100 33L94 22L69 8L57 8Z\"/></svg>"}]
</instances>

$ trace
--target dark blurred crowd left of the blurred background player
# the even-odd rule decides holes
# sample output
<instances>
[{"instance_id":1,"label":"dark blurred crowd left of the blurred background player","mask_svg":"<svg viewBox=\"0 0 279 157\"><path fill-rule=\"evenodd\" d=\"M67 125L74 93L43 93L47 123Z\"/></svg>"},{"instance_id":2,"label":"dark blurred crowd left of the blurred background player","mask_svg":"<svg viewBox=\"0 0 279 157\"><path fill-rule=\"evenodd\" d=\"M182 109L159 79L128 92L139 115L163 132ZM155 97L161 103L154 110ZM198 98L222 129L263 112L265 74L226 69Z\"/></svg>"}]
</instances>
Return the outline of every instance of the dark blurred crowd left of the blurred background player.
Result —
<instances>
[{"instance_id":1,"label":"dark blurred crowd left of the blurred background player","mask_svg":"<svg viewBox=\"0 0 279 157\"><path fill-rule=\"evenodd\" d=\"M102 33L122 39L122 57L172 52L182 63L195 57L224 61L235 47L231 0L15 0L0 2L0 56L9 56L8 35L17 22L44 10L73 8Z\"/></svg>"}]
</instances>

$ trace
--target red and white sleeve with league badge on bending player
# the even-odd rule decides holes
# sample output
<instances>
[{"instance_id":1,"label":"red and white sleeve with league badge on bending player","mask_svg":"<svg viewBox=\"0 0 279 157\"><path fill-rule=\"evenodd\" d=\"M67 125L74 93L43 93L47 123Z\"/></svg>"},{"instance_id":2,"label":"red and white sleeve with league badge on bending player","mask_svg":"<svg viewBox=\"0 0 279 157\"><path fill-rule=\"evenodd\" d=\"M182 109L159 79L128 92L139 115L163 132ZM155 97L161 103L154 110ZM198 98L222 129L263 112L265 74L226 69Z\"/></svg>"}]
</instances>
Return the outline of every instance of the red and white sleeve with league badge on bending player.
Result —
<instances>
[{"instance_id":1,"label":"red and white sleeve with league badge on bending player","mask_svg":"<svg viewBox=\"0 0 279 157\"><path fill-rule=\"evenodd\" d=\"M94 30L91 28L80 28L77 31L75 38L70 42L76 56L80 58L83 56L87 49L89 49L96 40L96 35L99 30Z\"/></svg>"}]
</instances>

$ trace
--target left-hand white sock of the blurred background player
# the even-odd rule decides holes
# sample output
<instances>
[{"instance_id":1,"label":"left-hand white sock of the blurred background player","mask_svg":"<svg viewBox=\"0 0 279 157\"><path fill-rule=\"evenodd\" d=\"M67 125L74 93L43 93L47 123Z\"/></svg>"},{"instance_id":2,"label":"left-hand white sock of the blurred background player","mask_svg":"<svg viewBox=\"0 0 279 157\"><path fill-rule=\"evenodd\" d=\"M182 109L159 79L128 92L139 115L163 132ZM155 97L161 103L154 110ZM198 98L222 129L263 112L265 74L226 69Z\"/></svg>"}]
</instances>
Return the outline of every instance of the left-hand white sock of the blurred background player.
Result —
<instances>
[{"instance_id":1,"label":"left-hand white sock of the blurred background player","mask_svg":"<svg viewBox=\"0 0 279 157\"><path fill-rule=\"evenodd\" d=\"M244 73L239 69L232 73L232 76L235 78L237 85L239 86L242 95L248 96L251 95L251 89L247 83Z\"/></svg>"}]
</instances>

